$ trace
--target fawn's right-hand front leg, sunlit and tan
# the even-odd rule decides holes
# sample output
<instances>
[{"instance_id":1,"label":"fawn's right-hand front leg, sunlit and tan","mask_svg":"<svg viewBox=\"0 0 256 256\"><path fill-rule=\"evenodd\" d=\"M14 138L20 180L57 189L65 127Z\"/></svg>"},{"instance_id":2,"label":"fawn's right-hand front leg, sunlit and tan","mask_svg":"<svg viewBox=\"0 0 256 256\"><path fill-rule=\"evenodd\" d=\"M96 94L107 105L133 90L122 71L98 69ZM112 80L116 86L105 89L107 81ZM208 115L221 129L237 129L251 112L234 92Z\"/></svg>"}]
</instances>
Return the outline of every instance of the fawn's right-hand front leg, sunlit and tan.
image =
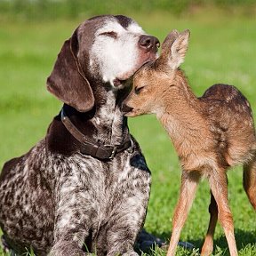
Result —
<instances>
[{"instance_id":1,"label":"fawn's right-hand front leg, sunlit and tan","mask_svg":"<svg viewBox=\"0 0 256 256\"><path fill-rule=\"evenodd\" d=\"M228 180L225 170L212 171L209 178L212 195L214 196L218 205L218 219L220 225L224 229L225 236L228 241L228 248L230 256L236 256L236 240L234 235L234 223L232 213L228 206Z\"/></svg>"}]
</instances>

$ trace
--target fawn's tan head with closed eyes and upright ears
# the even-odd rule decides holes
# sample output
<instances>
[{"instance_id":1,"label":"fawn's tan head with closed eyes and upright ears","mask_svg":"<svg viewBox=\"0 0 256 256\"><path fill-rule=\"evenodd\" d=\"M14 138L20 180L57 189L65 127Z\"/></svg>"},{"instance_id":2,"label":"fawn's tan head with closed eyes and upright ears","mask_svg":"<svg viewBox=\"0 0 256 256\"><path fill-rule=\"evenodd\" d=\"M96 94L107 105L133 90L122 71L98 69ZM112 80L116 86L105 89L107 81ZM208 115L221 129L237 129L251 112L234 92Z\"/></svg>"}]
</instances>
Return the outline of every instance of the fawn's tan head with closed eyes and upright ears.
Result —
<instances>
[{"instance_id":1,"label":"fawn's tan head with closed eyes and upright ears","mask_svg":"<svg viewBox=\"0 0 256 256\"><path fill-rule=\"evenodd\" d=\"M158 114L164 107L164 96L168 94L168 99L172 100L172 91L169 89L173 87L175 92L175 79L188 50L189 35L188 29L181 33L172 30L164 39L160 57L146 63L136 72L132 91L124 100L125 116Z\"/></svg>"}]
</instances>

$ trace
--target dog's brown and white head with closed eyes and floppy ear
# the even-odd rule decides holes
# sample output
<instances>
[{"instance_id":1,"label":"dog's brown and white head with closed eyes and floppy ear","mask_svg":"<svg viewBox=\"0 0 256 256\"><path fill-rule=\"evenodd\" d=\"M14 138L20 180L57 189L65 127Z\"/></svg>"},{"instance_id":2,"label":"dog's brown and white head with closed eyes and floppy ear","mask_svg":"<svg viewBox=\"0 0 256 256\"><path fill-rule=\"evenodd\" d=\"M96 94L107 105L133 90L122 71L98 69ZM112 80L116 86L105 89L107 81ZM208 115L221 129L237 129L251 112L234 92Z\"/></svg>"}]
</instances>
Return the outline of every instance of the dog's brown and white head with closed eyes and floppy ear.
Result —
<instances>
[{"instance_id":1,"label":"dog's brown and white head with closed eyes and floppy ear","mask_svg":"<svg viewBox=\"0 0 256 256\"><path fill-rule=\"evenodd\" d=\"M159 41L122 15L85 20L63 44L47 89L80 112L92 109L92 84L113 90L144 63L156 60Z\"/></svg>"}]
</instances>

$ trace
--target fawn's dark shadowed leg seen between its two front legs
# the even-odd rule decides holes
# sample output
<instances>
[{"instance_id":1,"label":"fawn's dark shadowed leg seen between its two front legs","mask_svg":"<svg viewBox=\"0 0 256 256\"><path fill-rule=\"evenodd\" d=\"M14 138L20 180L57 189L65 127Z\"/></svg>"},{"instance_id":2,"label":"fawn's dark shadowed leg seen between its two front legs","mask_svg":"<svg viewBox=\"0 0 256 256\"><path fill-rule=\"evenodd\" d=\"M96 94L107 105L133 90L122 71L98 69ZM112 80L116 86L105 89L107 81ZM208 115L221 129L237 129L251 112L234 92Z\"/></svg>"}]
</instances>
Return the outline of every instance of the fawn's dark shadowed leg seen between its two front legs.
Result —
<instances>
[{"instance_id":1,"label":"fawn's dark shadowed leg seen between its two front legs","mask_svg":"<svg viewBox=\"0 0 256 256\"><path fill-rule=\"evenodd\" d=\"M205 236L204 245L202 247L202 252L201 252L201 255L204 255L204 256L209 256L212 254L213 235L214 235L215 227L218 220L218 206L214 196L212 195L212 191L211 191L211 203L209 205L209 212L210 212L210 221L209 221L207 234Z\"/></svg>"}]
</instances>

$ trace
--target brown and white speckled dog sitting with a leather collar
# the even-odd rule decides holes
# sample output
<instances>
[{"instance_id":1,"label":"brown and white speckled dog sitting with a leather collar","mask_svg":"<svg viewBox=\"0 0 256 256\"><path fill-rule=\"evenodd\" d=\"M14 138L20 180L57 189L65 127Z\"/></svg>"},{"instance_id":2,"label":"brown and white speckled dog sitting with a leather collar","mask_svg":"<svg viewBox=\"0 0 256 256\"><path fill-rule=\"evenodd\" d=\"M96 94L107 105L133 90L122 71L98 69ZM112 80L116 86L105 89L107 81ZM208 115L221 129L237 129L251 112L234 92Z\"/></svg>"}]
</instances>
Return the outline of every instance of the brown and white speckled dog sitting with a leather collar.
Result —
<instances>
[{"instance_id":1,"label":"brown and white speckled dog sitting with a leather collar","mask_svg":"<svg viewBox=\"0 0 256 256\"><path fill-rule=\"evenodd\" d=\"M121 15L85 20L63 44L47 80L61 114L0 176L0 225L16 255L137 255L150 172L120 106L158 44Z\"/></svg>"}]
</instances>

